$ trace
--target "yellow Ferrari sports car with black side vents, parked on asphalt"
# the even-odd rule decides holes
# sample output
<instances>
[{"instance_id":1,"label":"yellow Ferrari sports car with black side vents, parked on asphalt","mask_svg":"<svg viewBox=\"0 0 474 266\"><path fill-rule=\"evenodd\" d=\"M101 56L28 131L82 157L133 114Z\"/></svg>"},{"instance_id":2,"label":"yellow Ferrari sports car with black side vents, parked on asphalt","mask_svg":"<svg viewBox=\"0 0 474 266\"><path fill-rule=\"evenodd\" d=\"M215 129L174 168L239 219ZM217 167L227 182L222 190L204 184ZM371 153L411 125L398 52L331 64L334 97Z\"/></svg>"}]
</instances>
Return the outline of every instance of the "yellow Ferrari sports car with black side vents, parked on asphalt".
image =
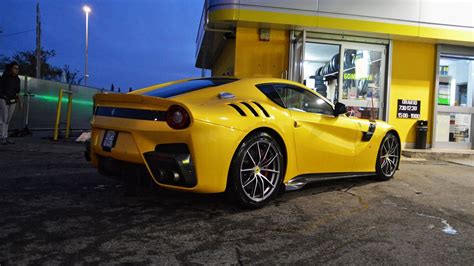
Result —
<instances>
[{"instance_id":1,"label":"yellow Ferrari sports car with black side vents, parked on asphalt","mask_svg":"<svg viewBox=\"0 0 474 266\"><path fill-rule=\"evenodd\" d=\"M162 187L225 191L247 207L264 205L282 186L391 178L400 160L396 130L346 113L288 80L181 80L96 94L89 155L105 175L135 178L146 168Z\"/></svg>"}]
</instances>

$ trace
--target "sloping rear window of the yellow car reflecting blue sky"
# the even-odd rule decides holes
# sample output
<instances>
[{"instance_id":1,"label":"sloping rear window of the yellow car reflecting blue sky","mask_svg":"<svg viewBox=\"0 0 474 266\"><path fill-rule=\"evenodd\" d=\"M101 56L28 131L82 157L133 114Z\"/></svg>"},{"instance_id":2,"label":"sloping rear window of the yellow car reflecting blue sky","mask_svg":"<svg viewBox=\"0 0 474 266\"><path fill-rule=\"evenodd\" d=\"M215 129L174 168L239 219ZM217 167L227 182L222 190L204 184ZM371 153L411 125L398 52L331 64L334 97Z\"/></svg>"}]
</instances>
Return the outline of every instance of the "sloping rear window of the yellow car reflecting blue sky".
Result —
<instances>
[{"instance_id":1,"label":"sloping rear window of the yellow car reflecting blue sky","mask_svg":"<svg viewBox=\"0 0 474 266\"><path fill-rule=\"evenodd\" d=\"M215 87L236 81L237 79L193 79L169 86L161 87L156 90L148 91L143 95L154 96L160 98L169 98L183 93L192 92L204 88Z\"/></svg>"}]
</instances>

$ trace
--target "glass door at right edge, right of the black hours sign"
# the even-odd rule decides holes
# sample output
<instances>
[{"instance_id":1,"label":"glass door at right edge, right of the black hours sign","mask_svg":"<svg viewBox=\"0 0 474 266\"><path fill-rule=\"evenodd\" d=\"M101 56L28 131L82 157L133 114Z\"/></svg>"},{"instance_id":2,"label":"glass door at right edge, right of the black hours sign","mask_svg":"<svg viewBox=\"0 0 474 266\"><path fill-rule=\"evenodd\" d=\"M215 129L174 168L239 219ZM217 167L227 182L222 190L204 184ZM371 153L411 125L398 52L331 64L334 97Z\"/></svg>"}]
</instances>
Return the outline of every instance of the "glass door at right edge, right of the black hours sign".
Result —
<instances>
[{"instance_id":1,"label":"glass door at right edge, right of the black hours sign","mask_svg":"<svg viewBox=\"0 0 474 266\"><path fill-rule=\"evenodd\" d=\"M440 54L435 147L472 149L474 57Z\"/></svg>"}]
</instances>

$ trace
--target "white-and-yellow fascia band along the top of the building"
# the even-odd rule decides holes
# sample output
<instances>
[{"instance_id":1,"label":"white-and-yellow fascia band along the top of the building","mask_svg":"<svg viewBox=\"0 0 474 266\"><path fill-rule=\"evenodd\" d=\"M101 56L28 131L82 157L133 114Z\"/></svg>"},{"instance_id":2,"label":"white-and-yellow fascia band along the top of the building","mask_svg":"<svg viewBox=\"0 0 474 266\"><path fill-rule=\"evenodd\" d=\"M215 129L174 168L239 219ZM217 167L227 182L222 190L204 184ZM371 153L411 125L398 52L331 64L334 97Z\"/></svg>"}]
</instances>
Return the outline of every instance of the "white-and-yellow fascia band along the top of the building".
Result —
<instances>
[{"instance_id":1,"label":"white-and-yellow fascia band along the top of the building","mask_svg":"<svg viewBox=\"0 0 474 266\"><path fill-rule=\"evenodd\" d=\"M472 0L208 0L210 20L474 42ZM381 36L386 37L386 36ZM469 44L468 44L469 45Z\"/></svg>"}]
</instances>

